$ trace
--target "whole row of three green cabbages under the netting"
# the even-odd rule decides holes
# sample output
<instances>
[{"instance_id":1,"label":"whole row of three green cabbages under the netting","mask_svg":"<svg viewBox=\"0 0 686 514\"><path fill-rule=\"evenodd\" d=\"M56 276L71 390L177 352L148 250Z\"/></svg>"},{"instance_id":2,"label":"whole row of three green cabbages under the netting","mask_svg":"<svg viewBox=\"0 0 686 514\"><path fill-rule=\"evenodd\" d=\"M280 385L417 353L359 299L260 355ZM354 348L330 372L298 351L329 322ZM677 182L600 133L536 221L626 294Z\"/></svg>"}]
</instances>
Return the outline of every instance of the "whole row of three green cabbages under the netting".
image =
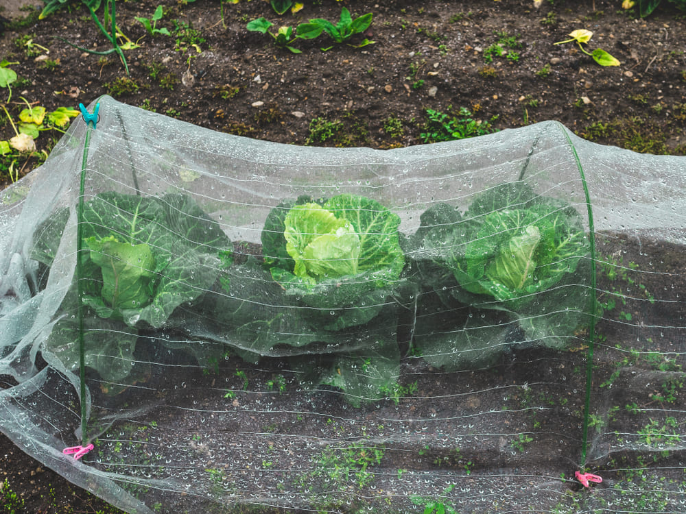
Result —
<instances>
[{"instance_id":1,"label":"whole row of three green cabbages under the netting","mask_svg":"<svg viewBox=\"0 0 686 514\"><path fill-rule=\"evenodd\" d=\"M46 277L67 217L36 230L32 257ZM563 349L589 323L588 237L564 201L514 182L464 212L431 206L410 236L400 221L356 195L287 199L250 254L187 195L101 193L81 226L86 330L60 317L47 359L78 367L81 336L86 366L125 383L145 376L141 336L185 334L209 344L161 339L201 365L227 345L250 362L288 358L303 383L359 404L393 390L401 350L449 371L480 367L515 345ZM76 291L75 281L62 313L78 308Z\"/></svg>"}]
</instances>

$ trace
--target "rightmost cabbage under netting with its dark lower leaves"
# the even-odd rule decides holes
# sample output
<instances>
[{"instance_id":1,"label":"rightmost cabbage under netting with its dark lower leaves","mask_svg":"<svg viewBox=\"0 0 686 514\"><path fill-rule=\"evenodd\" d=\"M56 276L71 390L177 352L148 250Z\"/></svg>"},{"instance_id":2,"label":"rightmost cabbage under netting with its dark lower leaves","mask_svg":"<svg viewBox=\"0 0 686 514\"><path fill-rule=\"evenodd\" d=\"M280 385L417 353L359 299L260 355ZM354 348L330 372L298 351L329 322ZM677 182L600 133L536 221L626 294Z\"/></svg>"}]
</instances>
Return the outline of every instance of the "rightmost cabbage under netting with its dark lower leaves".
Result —
<instances>
[{"instance_id":1,"label":"rightmost cabbage under netting with its dark lower leaves","mask_svg":"<svg viewBox=\"0 0 686 514\"><path fill-rule=\"evenodd\" d=\"M410 256L429 288L415 342L432 365L493 362L520 330L527 344L560 349L588 321L582 217L524 182L477 195L464 215L437 204L413 239Z\"/></svg>"}]
</instances>

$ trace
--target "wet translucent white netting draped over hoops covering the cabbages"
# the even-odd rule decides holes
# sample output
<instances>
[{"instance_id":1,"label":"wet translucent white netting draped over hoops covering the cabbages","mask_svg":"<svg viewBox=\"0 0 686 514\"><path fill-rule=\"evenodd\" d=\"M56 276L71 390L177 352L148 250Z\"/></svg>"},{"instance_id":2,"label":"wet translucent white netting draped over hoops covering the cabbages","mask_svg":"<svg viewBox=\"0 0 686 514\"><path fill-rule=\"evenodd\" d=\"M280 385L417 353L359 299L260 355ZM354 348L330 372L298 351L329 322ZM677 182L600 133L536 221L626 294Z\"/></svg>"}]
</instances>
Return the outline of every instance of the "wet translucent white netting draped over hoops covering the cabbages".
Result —
<instances>
[{"instance_id":1,"label":"wet translucent white netting draped over hoops covering the cabbages","mask_svg":"<svg viewBox=\"0 0 686 514\"><path fill-rule=\"evenodd\" d=\"M0 197L38 461L130 513L686 510L686 158L84 114Z\"/></svg>"}]
</instances>

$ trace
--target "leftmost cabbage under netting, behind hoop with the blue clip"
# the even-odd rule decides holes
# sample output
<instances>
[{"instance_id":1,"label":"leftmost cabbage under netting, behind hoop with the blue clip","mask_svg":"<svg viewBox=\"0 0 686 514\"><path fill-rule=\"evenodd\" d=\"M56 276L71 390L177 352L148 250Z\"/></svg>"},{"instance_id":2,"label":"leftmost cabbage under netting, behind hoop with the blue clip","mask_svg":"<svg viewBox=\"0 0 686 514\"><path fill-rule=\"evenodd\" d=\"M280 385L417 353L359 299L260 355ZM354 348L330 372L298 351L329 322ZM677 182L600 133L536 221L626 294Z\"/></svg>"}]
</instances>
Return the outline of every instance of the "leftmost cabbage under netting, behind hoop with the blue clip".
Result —
<instances>
[{"instance_id":1,"label":"leftmost cabbage under netting, behind hoop with the blue clip","mask_svg":"<svg viewBox=\"0 0 686 514\"><path fill-rule=\"evenodd\" d=\"M68 219L66 208L58 210L36 231L31 256L47 268ZM209 289L220 273L215 248L230 248L230 241L190 197L178 193L100 193L84 204L81 227L86 365L113 382L143 375L145 363L134 365L133 358L138 329L161 327L178 306ZM77 308L76 287L75 281L64 299L65 312ZM113 332L88 330L95 327ZM48 358L78 367L79 333L77 320L60 319L45 345ZM212 355L198 350L197 356Z\"/></svg>"}]
</instances>

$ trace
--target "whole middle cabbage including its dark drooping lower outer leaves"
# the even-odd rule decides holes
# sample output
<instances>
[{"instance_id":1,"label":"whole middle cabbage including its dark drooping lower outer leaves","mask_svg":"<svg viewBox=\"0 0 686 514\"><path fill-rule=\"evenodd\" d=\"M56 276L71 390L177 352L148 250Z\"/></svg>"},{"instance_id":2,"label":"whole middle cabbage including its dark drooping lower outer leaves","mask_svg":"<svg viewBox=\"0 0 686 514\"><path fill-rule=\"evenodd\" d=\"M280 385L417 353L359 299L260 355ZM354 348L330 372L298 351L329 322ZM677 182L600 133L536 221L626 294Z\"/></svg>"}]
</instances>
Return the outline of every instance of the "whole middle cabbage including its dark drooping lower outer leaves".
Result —
<instances>
[{"instance_id":1,"label":"whole middle cabbage including its dark drooping lower outer leaves","mask_svg":"<svg viewBox=\"0 0 686 514\"><path fill-rule=\"evenodd\" d=\"M250 362L289 358L301 386L340 389L353 405L386 397L400 365L399 223L366 197L282 201L265 220L263 262L224 265L215 312L226 341Z\"/></svg>"}]
</instances>

